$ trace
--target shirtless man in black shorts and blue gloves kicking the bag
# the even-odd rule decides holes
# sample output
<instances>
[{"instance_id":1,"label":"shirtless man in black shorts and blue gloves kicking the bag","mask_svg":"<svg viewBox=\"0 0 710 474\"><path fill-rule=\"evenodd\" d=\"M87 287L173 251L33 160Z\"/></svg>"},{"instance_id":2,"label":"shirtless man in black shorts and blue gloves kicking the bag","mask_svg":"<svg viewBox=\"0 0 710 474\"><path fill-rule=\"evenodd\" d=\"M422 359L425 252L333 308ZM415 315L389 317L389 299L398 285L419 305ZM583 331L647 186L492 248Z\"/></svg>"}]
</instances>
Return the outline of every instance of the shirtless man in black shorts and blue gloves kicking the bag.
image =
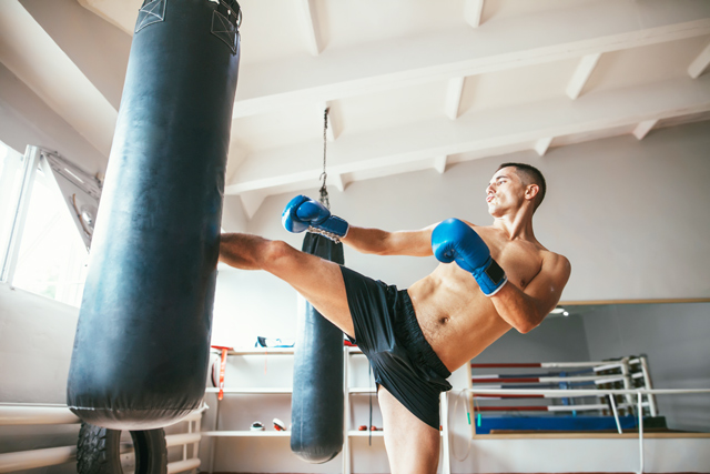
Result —
<instances>
[{"instance_id":1,"label":"shirtless man in black shorts and blue gloves kicking the bag","mask_svg":"<svg viewBox=\"0 0 710 474\"><path fill-rule=\"evenodd\" d=\"M532 232L545 188L537 169L504 163L486 188L493 225L449 219L419 231L348 225L305 196L288 203L283 223L292 232L310 228L358 252L442 261L408 290L255 235L223 234L220 259L286 281L356 341L378 384L392 472L435 473L446 377L511 327L527 333L540 324L569 279L569 261Z\"/></svg>"}]
</instances>

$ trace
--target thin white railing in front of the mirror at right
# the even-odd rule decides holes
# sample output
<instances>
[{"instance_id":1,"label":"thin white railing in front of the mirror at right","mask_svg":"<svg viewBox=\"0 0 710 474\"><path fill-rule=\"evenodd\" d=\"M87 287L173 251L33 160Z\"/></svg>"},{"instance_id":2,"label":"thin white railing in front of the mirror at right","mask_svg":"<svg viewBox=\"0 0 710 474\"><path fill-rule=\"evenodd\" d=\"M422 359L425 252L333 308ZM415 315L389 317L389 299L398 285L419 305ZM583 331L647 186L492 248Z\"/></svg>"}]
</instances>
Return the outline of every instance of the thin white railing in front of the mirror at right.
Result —
<instances>
[{"instance_id":1,"label":"thin white railing in front of the mirror at right","mask_svg":"<svg viewBox=\"0 0 710 474\"><path fill-rule=\"evenodd\" d=\"M617 422L617 430L621 432L621 424L617 413L613 395L637 396L637 413L639 416L639 474L643 473L643 403L642 396L652 397L655 395L682 395L682 394L710 394L710 389L637 389L637 390L615 390L615 389L595 389L595 390L544 390L544 389L464 389L473 395L545 395L550 397L568 397L568 396L609 396L611 407L613 409L613 417Z\"/></svg>"}]
</instances>

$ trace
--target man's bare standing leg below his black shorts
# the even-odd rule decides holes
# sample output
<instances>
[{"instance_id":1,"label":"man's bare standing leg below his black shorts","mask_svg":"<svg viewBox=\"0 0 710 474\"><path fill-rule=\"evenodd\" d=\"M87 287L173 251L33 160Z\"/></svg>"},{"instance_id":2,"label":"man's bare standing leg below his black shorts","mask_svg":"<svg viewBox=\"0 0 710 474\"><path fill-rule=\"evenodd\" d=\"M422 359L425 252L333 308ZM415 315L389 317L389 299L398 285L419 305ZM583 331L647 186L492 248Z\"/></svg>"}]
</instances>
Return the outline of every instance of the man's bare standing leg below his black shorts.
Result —
<instances>
[{"instance_id":1,"label":"man's bare standing leg below his black shorts","mask_svg":"<svg viewBox=\"0 0 710 474\"><path fill-rule=\"evenodd\" d=\"M392 473L435 474L439 463L439 431L417 418L383 386L377 391L377 400Z\"/></svg>"}]
</instances>

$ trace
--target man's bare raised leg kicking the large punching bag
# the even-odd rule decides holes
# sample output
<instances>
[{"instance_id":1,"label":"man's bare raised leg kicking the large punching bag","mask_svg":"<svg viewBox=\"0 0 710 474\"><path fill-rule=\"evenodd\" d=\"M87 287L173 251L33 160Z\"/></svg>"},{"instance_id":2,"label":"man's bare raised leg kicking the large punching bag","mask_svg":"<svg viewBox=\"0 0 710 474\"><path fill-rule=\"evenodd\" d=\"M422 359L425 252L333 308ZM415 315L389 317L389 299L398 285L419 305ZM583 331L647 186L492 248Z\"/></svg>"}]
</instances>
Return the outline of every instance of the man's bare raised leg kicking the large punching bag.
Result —
<instances>
[{"instance_id":1,"label":"man's bare raised leg kicking the large punching bag","mask_svg":"<svg viewBox=\"0 0 710 474\"><path fill-rule=\"evenodd\" d=\"M301 252L282 241L222 234L220 260L242 270L265 270L293 286L318 313L355 336L341 265Z\"/></svg>"}]
</instances>

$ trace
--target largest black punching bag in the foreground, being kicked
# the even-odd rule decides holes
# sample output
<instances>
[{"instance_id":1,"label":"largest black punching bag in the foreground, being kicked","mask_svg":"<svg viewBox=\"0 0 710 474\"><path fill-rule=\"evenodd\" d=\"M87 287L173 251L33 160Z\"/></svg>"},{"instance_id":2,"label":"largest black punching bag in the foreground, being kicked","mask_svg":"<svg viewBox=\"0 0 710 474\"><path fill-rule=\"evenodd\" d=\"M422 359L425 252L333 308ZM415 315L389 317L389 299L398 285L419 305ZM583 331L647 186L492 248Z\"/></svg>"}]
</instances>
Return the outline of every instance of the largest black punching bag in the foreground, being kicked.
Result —
<instances>
[{"instance_id":1,"label":"largest black punching bag in the foreground, being kicked","mask_svg":"<svg viewBox=\"0 0 710 474\"><path fill-rule=\"evenodd\" d=\"M161 427L204 395L240 14L234 0L139 13L67 389L88 423Z\"/></svg>"}]
</instances>

